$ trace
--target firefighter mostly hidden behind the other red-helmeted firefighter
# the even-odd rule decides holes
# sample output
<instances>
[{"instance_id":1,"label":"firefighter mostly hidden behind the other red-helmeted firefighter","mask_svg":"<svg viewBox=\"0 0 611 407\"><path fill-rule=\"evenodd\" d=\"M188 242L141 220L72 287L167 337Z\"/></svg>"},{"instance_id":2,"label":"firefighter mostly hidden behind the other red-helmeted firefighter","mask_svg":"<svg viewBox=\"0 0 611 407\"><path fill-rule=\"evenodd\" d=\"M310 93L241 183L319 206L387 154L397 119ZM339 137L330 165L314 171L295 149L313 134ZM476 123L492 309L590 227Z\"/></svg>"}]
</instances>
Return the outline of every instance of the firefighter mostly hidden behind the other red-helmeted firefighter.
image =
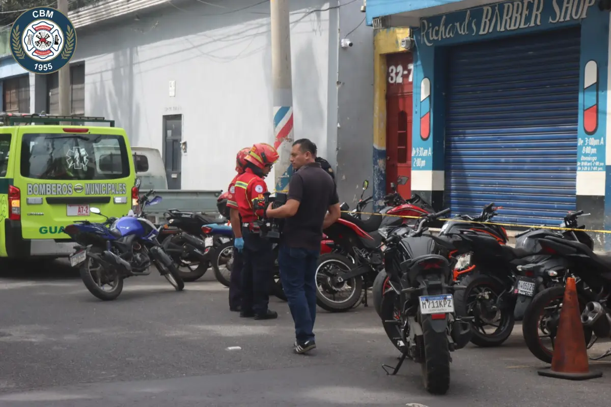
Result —
<instances>
[{"instance_id":1,"label":"firefighter mostly hidden behind the other red-helmeted firefighter","mask_svg":"<svg viewBox=\"0 0 611 407\"><path fill-rule=\"evenodd\" d=\"M235 170L237 174L233 177L232 181L229 184L229 195L227 195L227 207L229 207L230 211L233 208L233 216L232 212L230 212L229 220L232 223L238 225L239 229L242 229L242 220L240 219L240 214L236 209L238 209L238 204L235 203L235 182L238 180L238 177L244 173L244 167L246 166L246 154L251 151L250 148L246 147L238 151L238 155L235 159ZM235 241L236 236L234 234L233 240ZM233 250L233 267L231 271L231 279L229 284L229 309L230 311L239 312L240 306L242 302L242 254L236 248Z\"/></svg>"}]
</instances>

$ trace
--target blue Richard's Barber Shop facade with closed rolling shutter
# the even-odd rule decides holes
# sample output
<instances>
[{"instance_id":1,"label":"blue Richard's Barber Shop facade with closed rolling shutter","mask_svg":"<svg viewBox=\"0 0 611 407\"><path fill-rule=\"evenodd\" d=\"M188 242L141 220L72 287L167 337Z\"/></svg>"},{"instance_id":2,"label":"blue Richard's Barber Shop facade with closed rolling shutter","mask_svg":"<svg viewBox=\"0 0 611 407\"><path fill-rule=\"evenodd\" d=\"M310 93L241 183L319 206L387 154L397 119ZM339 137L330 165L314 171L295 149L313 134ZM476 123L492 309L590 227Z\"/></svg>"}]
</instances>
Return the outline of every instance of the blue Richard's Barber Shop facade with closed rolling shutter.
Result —
<instances>
[{"instance_id":1,"label":"blue Richard's Barber Shop facade with closed rolling shutter","mask_svg":"<svg viewBox=\"0 0 611 407\"><path fill-rule=\"evenodd\" d=\"M384 15L382 5L367 3L373 17ZM588 229L611 229L606 3L417 10L412 192L453 214L478 214L494 202L502 206L495 220L515 225L558 225L582 209L591 214ZM602 236L596 240L601 247Z\"/></svg>"}]
</instances>

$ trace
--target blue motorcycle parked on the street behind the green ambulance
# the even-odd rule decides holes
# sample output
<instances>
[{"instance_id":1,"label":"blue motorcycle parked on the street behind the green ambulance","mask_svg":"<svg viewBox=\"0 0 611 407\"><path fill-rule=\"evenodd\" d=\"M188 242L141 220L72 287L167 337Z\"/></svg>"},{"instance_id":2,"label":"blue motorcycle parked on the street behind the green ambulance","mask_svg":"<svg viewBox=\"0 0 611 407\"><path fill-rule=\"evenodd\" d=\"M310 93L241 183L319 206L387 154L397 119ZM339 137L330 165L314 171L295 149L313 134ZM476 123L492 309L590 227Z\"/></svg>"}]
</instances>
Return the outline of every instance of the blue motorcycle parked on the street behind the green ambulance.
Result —
<instances>
[{"instance_id":1,"label":"blue motorcycle parked on the street behind the green ambulance","mask_svg":"<svg viewBox=\"0 0 611 407\"><path fill-rule=\"evenodd\" d=\"M82 282L100 300L115 300L123 290L123 279L149 275L151 265L177 291L185 288L177 267L157 240L158 228L144 218L145 207L161 202L161 196L148 200L153 193L155 191L150 190L139 199L142 206L139 216L130 210L127 216L109 218L92 207L89 211L106 217L106 222L83 220L64 229L77 243L70 264L79 267Z\"/></svg>"}]
</instances>

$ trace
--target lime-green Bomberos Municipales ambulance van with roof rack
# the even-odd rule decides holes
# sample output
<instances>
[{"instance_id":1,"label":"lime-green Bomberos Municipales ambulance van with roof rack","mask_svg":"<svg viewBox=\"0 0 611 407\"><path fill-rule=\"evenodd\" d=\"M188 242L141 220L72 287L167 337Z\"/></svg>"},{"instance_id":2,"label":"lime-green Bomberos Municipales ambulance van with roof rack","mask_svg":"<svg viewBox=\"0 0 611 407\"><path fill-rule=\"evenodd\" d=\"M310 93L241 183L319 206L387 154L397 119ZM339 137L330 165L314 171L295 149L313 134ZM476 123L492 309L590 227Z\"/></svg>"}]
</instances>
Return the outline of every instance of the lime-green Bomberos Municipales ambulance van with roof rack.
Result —
<instances>
[{"instance_id":1,"label":"lime-green Bomberos Municipales ambulance van with roof rack","mask_svg":"<svg viewBox=\"0 0 611 407\"><path fill-rule=\"evenodd\" d=\"M114 120L0 113L0 257L70 256L65 226L103 222L92 206L126 215L136 206L135 179L128 137Z\"/></svg>"}]
</instances>

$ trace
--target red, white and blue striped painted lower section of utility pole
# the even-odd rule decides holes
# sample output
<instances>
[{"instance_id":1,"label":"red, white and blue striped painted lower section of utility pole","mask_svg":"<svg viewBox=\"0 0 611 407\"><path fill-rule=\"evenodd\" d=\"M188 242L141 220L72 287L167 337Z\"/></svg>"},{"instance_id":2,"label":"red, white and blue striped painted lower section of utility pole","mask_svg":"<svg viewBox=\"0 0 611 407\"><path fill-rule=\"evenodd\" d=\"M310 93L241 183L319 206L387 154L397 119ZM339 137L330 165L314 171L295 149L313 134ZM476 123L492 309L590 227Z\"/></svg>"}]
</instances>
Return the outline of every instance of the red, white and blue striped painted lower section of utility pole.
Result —
<instances>
[{"instance_id":1,"label":"red, white and blue striped painted lower section of utility pole","mask_svg":"<svg viewBox=\"0 0 611 407\"><path fill-rule=\"evenodd\" d=\"M293 143L293 107L274 107L274 148L280 154L275 171L283 171L282 175L276 172L276 190L284 191L293 174L290 165L290 155ZM278 168L279 167L279 168Z\"/></svg>"}]
</instances>

